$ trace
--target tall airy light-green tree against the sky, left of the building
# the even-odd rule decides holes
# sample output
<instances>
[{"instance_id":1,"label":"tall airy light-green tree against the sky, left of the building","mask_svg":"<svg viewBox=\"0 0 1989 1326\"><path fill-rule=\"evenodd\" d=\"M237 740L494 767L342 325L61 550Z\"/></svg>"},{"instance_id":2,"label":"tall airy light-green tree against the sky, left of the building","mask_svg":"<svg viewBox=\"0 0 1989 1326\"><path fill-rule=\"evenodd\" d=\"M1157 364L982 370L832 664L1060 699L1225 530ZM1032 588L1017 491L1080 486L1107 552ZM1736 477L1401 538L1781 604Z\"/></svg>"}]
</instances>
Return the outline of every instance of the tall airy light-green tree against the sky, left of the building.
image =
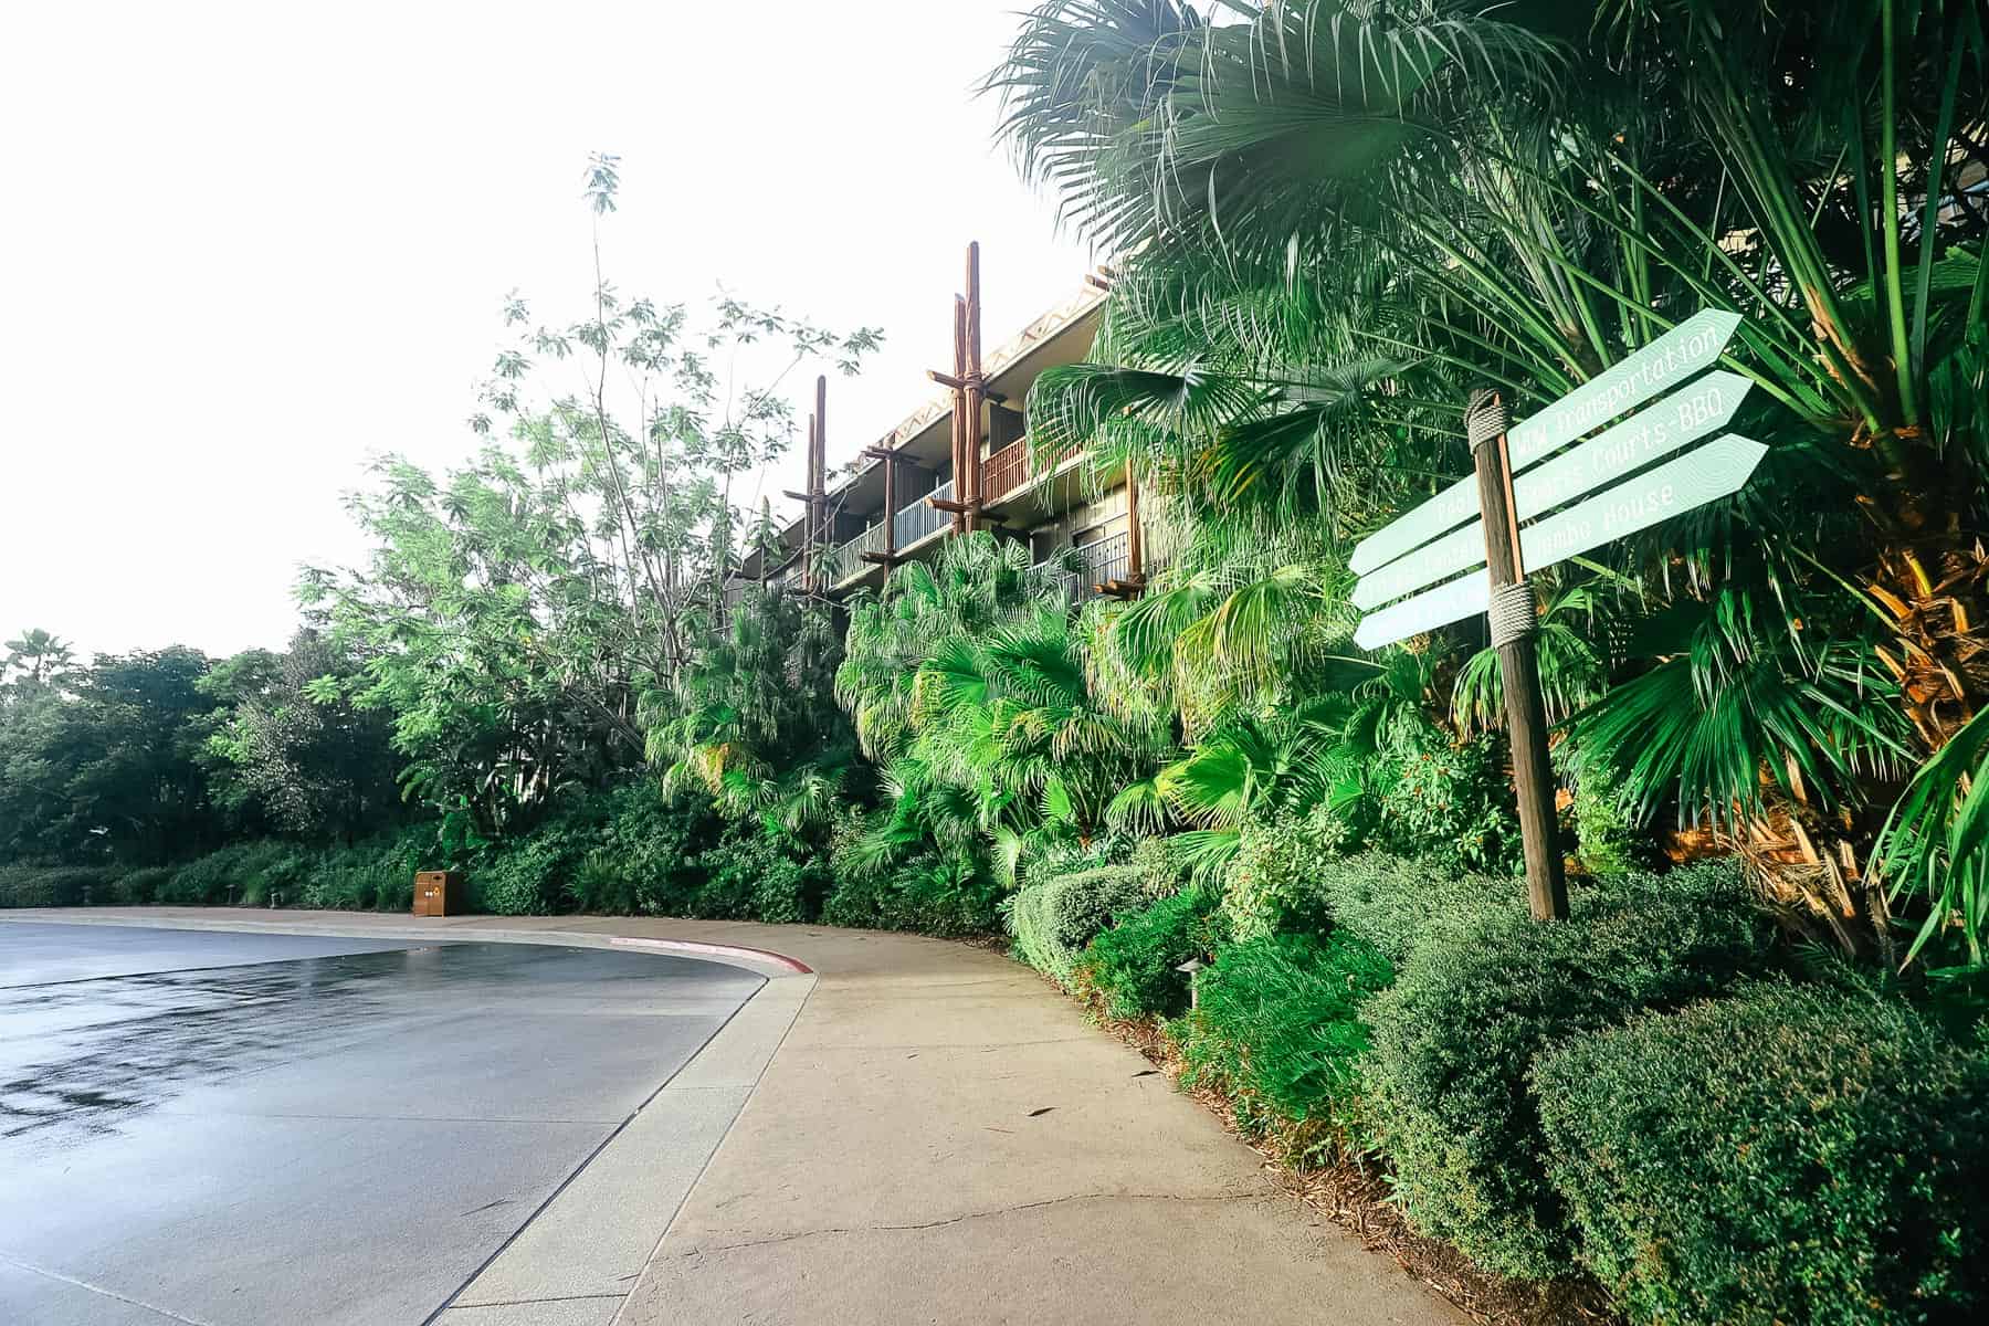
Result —
<instances>
[{"instance_id":1,"label":"tall airy light-green tree against the sky, left of the building","mask_svg":"<svg viewBox=\"0 0 1989 1326\"><path fill-rule=\"evenodd\" d=\"M406 793L479 835L642 761L640 698L678 692L726 630L746 525L734 489L794 431L780 384L810 360L855 372L879 340L724 294L704 320L623 296L601 258L619 171L607 155L587 171L587 312L555 326L505 302L513 340L471 417L483 451L440 479L380 461L350 503L378 545L370 565L300 586L364 658L340 692L394 716Z\"/></svg>"}]
</instances>

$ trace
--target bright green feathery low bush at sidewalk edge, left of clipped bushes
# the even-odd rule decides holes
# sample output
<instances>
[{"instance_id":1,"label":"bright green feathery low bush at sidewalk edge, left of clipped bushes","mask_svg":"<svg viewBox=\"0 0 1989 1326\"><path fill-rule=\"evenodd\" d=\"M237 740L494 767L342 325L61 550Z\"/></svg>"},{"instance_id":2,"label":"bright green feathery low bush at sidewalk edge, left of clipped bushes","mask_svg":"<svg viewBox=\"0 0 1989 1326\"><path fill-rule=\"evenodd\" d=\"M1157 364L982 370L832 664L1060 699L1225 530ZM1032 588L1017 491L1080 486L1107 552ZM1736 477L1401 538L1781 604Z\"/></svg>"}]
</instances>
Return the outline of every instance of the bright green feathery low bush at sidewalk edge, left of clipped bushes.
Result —
<instances>
[{"instance_id":1,"label":"bright green feathery low bush at sidewalk edge, left of clipped bushes","mask_svg":"<svg viewBox=\"0 0 1989 1326\"><path fill-rule=\"evenodd\" d=\"M1368 1048L1360 1004L1394 982L1394 966L1366 940L1337 930L1261 934L1215 954L1193 1012L1174 1028L1187 1085L1229 1095L1253 1135L1291 1133L1303 1153L1358 1089Z\"/></svg>"}]
</instances>

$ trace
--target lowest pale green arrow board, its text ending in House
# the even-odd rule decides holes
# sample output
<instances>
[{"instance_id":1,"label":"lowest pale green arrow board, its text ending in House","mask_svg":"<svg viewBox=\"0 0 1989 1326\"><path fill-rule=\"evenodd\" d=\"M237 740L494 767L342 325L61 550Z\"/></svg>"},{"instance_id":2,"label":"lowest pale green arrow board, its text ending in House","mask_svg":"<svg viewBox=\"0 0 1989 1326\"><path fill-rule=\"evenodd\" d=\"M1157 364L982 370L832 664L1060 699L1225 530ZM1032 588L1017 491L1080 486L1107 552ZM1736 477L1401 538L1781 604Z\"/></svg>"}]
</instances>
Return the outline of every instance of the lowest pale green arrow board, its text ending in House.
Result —
<instances>
[{"instance_id":1,"label":"lowest pale green arrow board, its text ending in House","mask_svg":"<svg viewBox=\"0 0 1989 1326\"><path fill-rule=\"evenodd\" d=\"M1766 453L1768 447L1738 433L1717 437L1649 473L1605 489L1577 507L1522 529L1522 561L1528 571L1553 567L1693 507L1738 493ZM1372 650L1460 622L1474 612L1484 612L1490 598L1486 573L1474 571L1380 612L1370 612L1360 620L1355 644Z\"/></svg>"}]
</instances>

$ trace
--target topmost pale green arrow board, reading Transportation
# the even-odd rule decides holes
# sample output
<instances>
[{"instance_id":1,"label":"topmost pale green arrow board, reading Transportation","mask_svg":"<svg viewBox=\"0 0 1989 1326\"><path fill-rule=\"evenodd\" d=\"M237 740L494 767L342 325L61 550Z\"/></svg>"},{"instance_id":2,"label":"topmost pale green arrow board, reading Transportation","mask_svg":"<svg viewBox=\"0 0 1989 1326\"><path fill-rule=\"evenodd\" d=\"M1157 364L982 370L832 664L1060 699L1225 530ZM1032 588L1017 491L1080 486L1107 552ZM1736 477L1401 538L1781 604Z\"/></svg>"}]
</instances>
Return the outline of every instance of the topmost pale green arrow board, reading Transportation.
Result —
<instances>
[{"instance_id":1,"label":"topmost pale green arrow board, reading Transportation","mask_svg":"<svg viewBox=\"0 0 1989 1326\"><path fill-rule=\"evenodd\" d=\"M1514 425L1506 433L1514 473L1551 455L1625 410L1685 382L1703 368L1711 368L1720 358L1726 342L1732 340L1736 326L1740 326L1740 314L1713 308L1693 314L1603 376L1575 388L1534 417ZM1366 575L1374 567L1382 567L1410 549L1418 549L1456 529L1474 515L1478 515L1478 481L1460 479L1386 529L1355 545L1347 567L1355 575Z\"/></svg>"}]
</instances>

